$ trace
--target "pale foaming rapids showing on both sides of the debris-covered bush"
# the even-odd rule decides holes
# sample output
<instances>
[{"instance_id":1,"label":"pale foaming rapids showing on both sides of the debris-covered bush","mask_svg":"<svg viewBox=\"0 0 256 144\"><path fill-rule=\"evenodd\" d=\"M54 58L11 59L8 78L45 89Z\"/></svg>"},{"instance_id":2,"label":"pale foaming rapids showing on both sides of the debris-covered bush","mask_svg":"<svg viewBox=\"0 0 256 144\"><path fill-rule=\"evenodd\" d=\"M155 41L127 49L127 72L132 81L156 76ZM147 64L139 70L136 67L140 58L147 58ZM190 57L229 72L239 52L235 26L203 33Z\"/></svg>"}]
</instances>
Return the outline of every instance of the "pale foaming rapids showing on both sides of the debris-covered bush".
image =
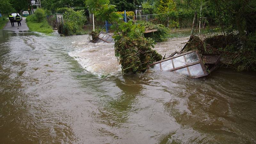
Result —
<instances>
[{"instance_id":1,"label":"pale foaming rapids showing on both sides of the debris-covered bush","mask_svg":"<svg viewBox=\"0 0 256 144\"><path fill-rule=\"evenodd\" d=\"M69 52L84 69L98 76L116 75L121 73L121 65L118 64L115 56L114 44L91 43L84 41L84 37L76 37L72 46L74 51ZM180 51L189 37L172 38L166 42L159 42L155 45L155 50L161 55L168 57L175 51Z\"/></svg>"}]
</instances>

